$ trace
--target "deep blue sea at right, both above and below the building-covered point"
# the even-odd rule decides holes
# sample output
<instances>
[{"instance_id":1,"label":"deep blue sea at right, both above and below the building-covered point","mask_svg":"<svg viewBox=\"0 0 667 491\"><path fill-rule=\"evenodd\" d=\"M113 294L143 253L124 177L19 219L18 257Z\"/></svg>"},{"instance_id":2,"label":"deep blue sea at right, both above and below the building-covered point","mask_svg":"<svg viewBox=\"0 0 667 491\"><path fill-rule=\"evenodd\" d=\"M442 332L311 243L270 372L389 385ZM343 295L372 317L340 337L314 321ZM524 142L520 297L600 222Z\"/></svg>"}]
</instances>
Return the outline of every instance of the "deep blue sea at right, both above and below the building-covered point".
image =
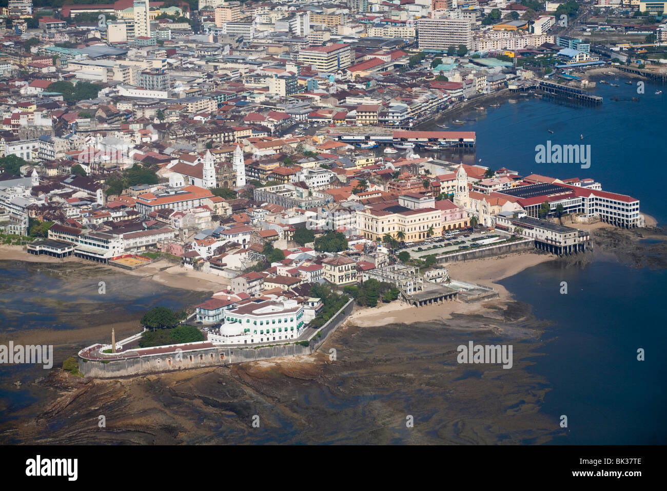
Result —
<instances>
[{"instance_id":1,"label":"deep blue sea at right, both above and below the building-covered point","mask_svg":"<svg viewBox=\"0 0 667 491\"><path fill-rule=\"evenodd\" d=\"M524 176L594 178L604 190L639 198L640 210L664 224L667 94L654 94L664 87L649 83L644 94L637 94L636 82L630 86L624 78L604 79L619 87L598 84L593 93L604 102L597 108L529 96L488 108L486 114L470 113L475 121L454 128L477 132L474 159L481 158L482 165L504 166ZM547 140L590 144L590 168L536 164L535 146ZM464 158L470 162L470 156ZM567 295L559 293L562 281L568 283ZM552 386L542 411L554 422L568 416L568 436L554 443L667 442L665 271L602 259L584 269L548 263L502 284L518 301L533 305L536 317L554 323L546 336L552 339L544 347L546 356L536 358L530 368ZM646 350L645 361L637 361L638 348Z\"/></svg>"}]
</instances>

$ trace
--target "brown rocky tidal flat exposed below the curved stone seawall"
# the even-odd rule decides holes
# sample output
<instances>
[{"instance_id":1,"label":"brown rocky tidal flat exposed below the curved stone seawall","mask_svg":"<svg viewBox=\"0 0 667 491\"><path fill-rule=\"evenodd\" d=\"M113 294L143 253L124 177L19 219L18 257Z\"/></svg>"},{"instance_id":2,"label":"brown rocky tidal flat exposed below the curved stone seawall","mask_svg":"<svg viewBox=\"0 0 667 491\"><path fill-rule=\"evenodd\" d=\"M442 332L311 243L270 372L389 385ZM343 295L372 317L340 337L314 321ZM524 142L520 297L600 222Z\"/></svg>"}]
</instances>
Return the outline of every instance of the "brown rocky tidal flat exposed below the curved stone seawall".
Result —
<instances>
[{"instance_id":1,"label":"brown rocky tidal flat exposed below the curved stone seawall","mask_svg":"<svg viewBox=\"0 0 667 491\"><path fill-rule=\"evenodd\" d=\"M348 325L310 357L118 380L53 372L31 418L0 424L5 443L518 444L562 433L539 407L548 383L530 375L544 323L528 306L494 306L374 327ZM514 367L460 365L456 347L514 343ZM329 349L336 349L336 360ZM59 392L59 393L58 393ZM106 417L107 428L97 427ZM259 428L253 428L253 416ZM406 418L414 418L414 428Z\"/></svg>"}]
</instances>

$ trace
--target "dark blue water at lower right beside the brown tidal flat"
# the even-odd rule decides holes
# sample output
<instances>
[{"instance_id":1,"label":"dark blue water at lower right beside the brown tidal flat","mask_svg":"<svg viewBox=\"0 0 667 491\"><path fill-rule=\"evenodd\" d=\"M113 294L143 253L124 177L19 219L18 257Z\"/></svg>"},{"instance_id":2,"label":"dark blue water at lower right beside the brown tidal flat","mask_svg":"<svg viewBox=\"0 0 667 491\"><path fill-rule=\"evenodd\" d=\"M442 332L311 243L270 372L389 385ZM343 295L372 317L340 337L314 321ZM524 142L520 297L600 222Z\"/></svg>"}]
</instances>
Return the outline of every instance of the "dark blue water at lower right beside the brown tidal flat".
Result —
<instances>
[{"instance_id":1,"label":"dark blue water at lower right beside the brown tidal flat","mask_svg":"<svg viewBox=\"0 0 667 491\"><path fill-rule=\"evenodd\" d=\"M561 294L562 282L568 293ZM665 444L667 315L664 270L593 261L583 269L543 263L501 281L551 325L528 371L551 391L542 412L568 436L554 444ZM638 361L644 349L644 361Z\"/></svg>"}]
</instances>

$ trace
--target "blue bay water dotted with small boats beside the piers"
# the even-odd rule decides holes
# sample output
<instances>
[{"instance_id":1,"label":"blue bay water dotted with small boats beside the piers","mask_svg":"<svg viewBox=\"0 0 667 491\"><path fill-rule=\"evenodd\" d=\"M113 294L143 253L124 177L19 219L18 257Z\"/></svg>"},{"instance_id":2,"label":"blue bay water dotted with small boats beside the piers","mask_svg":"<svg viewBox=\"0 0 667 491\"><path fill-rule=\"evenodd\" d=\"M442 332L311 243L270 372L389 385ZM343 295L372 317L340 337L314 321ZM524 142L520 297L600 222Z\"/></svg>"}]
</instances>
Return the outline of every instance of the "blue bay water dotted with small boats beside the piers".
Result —
<instances>
[{"instance_id":1,"label":"blue bay water dotted with small boats beside the piers","mask_svg":"<svg viewBox=\"0 0 667 491\"><path fill-rule=\"evenodd\" d=\"M459 116L458 119L468 121L462 126L452 126L448 124L451 118L445 119L449 126L445 131L476 132L477 149L474 153L447 152L442 158L493 169L506 167L522 176L590 177L600 182L603 190L638 198L640 211L664 223L667 207L661 183L667 176L667 90L646 81L644 94L637 94L636 81L629 86L625 84L627 78L603 78L619 87L598 84L590 91L604 98L601 106L516 96L515 103L504 101L500 108L487 107L485 112L473 110ZM664 94L656 95L656 90L664 90ZM639 101L632 102L633 97ZM439 130L436 126L432 129ZM547 141L590 145L590 168L581 168L580 164L538 164L535 147L546 146Z\"/></svg>"}]
</instances>

